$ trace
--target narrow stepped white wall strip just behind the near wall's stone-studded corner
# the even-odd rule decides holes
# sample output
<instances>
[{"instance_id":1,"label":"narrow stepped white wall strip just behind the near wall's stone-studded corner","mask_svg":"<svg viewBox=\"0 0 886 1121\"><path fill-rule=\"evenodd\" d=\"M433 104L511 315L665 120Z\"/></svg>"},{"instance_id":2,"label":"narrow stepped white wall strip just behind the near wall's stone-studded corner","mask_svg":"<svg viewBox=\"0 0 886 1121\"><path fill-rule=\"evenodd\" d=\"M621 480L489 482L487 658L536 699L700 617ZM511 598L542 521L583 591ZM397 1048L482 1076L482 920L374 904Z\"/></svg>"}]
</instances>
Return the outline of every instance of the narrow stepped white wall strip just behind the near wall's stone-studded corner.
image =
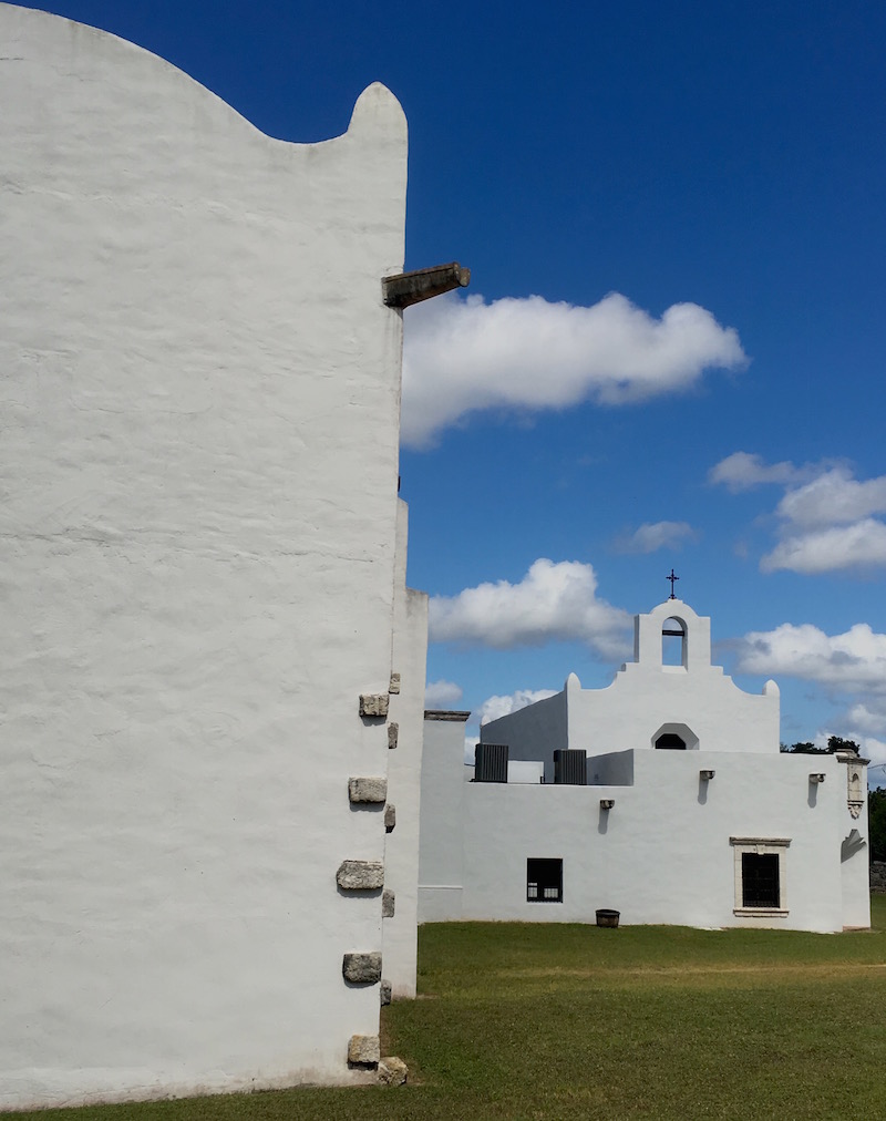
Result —
<instances>
[{"instance_id":1,"label":"narrow stepped white wall strip just behind the near wall's stone-studded corner","mask_svg":"<svg viewBox=\"0 0 886 1121\"><path fill-rule=\"evenodd\" d=\"M399 503L392 666L400 693L390 698L397 748L388 752L388 802L395 824L386 835L384 886L394 893L394 914L382 923L383 978L393 997L416 995L418 967L418 879L421 753L425 722L425 667L428 652L428 596L405 586L408 511Z\"/></svg>"}]
</instances>

